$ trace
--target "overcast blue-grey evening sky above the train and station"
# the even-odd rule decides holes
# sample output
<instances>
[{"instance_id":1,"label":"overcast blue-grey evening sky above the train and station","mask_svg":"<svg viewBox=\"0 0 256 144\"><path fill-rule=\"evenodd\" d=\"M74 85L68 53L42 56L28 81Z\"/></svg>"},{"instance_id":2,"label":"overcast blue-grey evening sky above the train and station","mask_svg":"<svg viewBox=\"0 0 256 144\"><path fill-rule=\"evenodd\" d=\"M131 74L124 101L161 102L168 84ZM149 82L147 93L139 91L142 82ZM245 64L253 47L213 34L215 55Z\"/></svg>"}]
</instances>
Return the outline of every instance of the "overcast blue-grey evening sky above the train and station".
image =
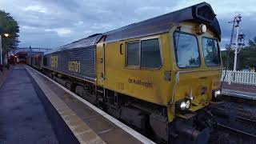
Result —
<instances>
[{"instance_id":1,"label":"overcast blue-grey evening sky above the train and station","mask_svg":"<svg viewBox=\"0 0 256 144\"><path fill-rule=\"evenodd\" d=\"M103 33L200 0L0 0L0 10L19 23L19 46L54 48L90 34ZM242 14L246 40L256 36L256 0L206 0L217 14L222 29L222 46L230 41L231 25Z\"/></svg>"}]
</instances>

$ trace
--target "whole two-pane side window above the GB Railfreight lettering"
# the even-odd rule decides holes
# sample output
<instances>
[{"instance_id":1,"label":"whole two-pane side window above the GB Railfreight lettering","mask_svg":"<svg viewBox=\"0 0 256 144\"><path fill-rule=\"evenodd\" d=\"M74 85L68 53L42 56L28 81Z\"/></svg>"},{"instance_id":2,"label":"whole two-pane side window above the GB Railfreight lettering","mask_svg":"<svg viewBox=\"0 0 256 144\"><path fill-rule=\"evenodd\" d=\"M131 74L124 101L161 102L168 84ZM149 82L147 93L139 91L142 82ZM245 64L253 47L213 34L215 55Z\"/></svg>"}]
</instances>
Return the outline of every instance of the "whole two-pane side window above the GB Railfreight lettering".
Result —
<instances>
[{"instance_id":1,"label":"whole two-pane side window above the GB Railfreight lettering","mask_svg":"<svg viewBox=\"0 0 256 144\"><path fill-rule=\"evenodd\" d=\"M126 44L126 66L142 68L159 68L162 57L158 38L129 42Z\"/></svg>"}]
</instances>

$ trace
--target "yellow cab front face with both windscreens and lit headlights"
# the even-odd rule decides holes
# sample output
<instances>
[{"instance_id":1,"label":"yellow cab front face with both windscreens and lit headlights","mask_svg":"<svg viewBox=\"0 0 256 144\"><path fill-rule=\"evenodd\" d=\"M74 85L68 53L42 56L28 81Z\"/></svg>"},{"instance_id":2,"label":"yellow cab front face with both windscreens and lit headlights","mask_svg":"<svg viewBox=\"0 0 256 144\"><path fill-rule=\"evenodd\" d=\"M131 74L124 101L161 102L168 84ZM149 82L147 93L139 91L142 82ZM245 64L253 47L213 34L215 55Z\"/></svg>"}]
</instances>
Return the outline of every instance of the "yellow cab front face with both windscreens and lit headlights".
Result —
<instances>
[{"instance_id":1,"label":"yellow cab front face with both windscreens and lit headlights","mask_svg":"<svg viewBox=\"0 0 256 144\"><path fill-rule=\"evenodd\" d=\"M219 40L212 30L206 29L204 24L182 22L170 31L175 76L170 103L178 103L176 113L199 110L220 94L222 59Z\"/></svg>"}]
</instances>

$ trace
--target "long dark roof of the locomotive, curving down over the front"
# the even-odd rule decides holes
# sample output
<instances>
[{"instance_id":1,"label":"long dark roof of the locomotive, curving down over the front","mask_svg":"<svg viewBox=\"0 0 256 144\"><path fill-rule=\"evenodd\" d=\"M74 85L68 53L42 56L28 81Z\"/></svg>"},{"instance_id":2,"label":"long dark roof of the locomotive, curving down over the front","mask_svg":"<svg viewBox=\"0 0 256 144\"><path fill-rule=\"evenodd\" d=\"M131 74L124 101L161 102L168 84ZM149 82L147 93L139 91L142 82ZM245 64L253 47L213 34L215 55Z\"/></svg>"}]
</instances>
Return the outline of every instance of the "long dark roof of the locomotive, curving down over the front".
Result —
<instances>
[{"instance_id":1,"label":"long dark roof of the locomotive, curving down over the front","mask_svg":"<svg viewBox=\"0 0 256 144\"><path fill-rule=\"evenodd\" d=\"M47 51L45 54L54 53L60 50L73 49L78 47L94 46L102 35L106 35L106 42L115 42L129 38L139 38L154 34L163 34L168 32L172 26L180 22L194 21L204 23L214 31L217 38L221 38L221 29L218 19L210 4L206 2L194 6L186 7L168 14L163 14L155 18L150 18L142 22L137 22L128 26L123 26L116 30L111 30L104 34L93 34L87 38L82 38L57 49Z\"/></svg>"}]
</instances>

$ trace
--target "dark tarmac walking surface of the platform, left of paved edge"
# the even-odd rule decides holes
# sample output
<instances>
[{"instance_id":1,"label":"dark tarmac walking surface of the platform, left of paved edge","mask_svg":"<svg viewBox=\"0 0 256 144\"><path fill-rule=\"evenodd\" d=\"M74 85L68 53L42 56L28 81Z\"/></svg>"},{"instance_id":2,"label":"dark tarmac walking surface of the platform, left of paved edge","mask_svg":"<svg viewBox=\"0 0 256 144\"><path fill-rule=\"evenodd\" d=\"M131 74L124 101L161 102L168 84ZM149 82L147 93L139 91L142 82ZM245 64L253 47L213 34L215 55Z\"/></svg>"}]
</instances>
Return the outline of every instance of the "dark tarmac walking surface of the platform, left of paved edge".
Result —
<instances>
[{"instance_id":1,"label":"dark tarmac walking surface of the platform, left of paved edge","mask_svg":"<svg viewBox=\"0 0 256 144\"><path fill-rule=\"evenodd\" d=\"M0 144L58 144L42 102L23 66L0 86Z\"/></svg>"}]
</instances>

